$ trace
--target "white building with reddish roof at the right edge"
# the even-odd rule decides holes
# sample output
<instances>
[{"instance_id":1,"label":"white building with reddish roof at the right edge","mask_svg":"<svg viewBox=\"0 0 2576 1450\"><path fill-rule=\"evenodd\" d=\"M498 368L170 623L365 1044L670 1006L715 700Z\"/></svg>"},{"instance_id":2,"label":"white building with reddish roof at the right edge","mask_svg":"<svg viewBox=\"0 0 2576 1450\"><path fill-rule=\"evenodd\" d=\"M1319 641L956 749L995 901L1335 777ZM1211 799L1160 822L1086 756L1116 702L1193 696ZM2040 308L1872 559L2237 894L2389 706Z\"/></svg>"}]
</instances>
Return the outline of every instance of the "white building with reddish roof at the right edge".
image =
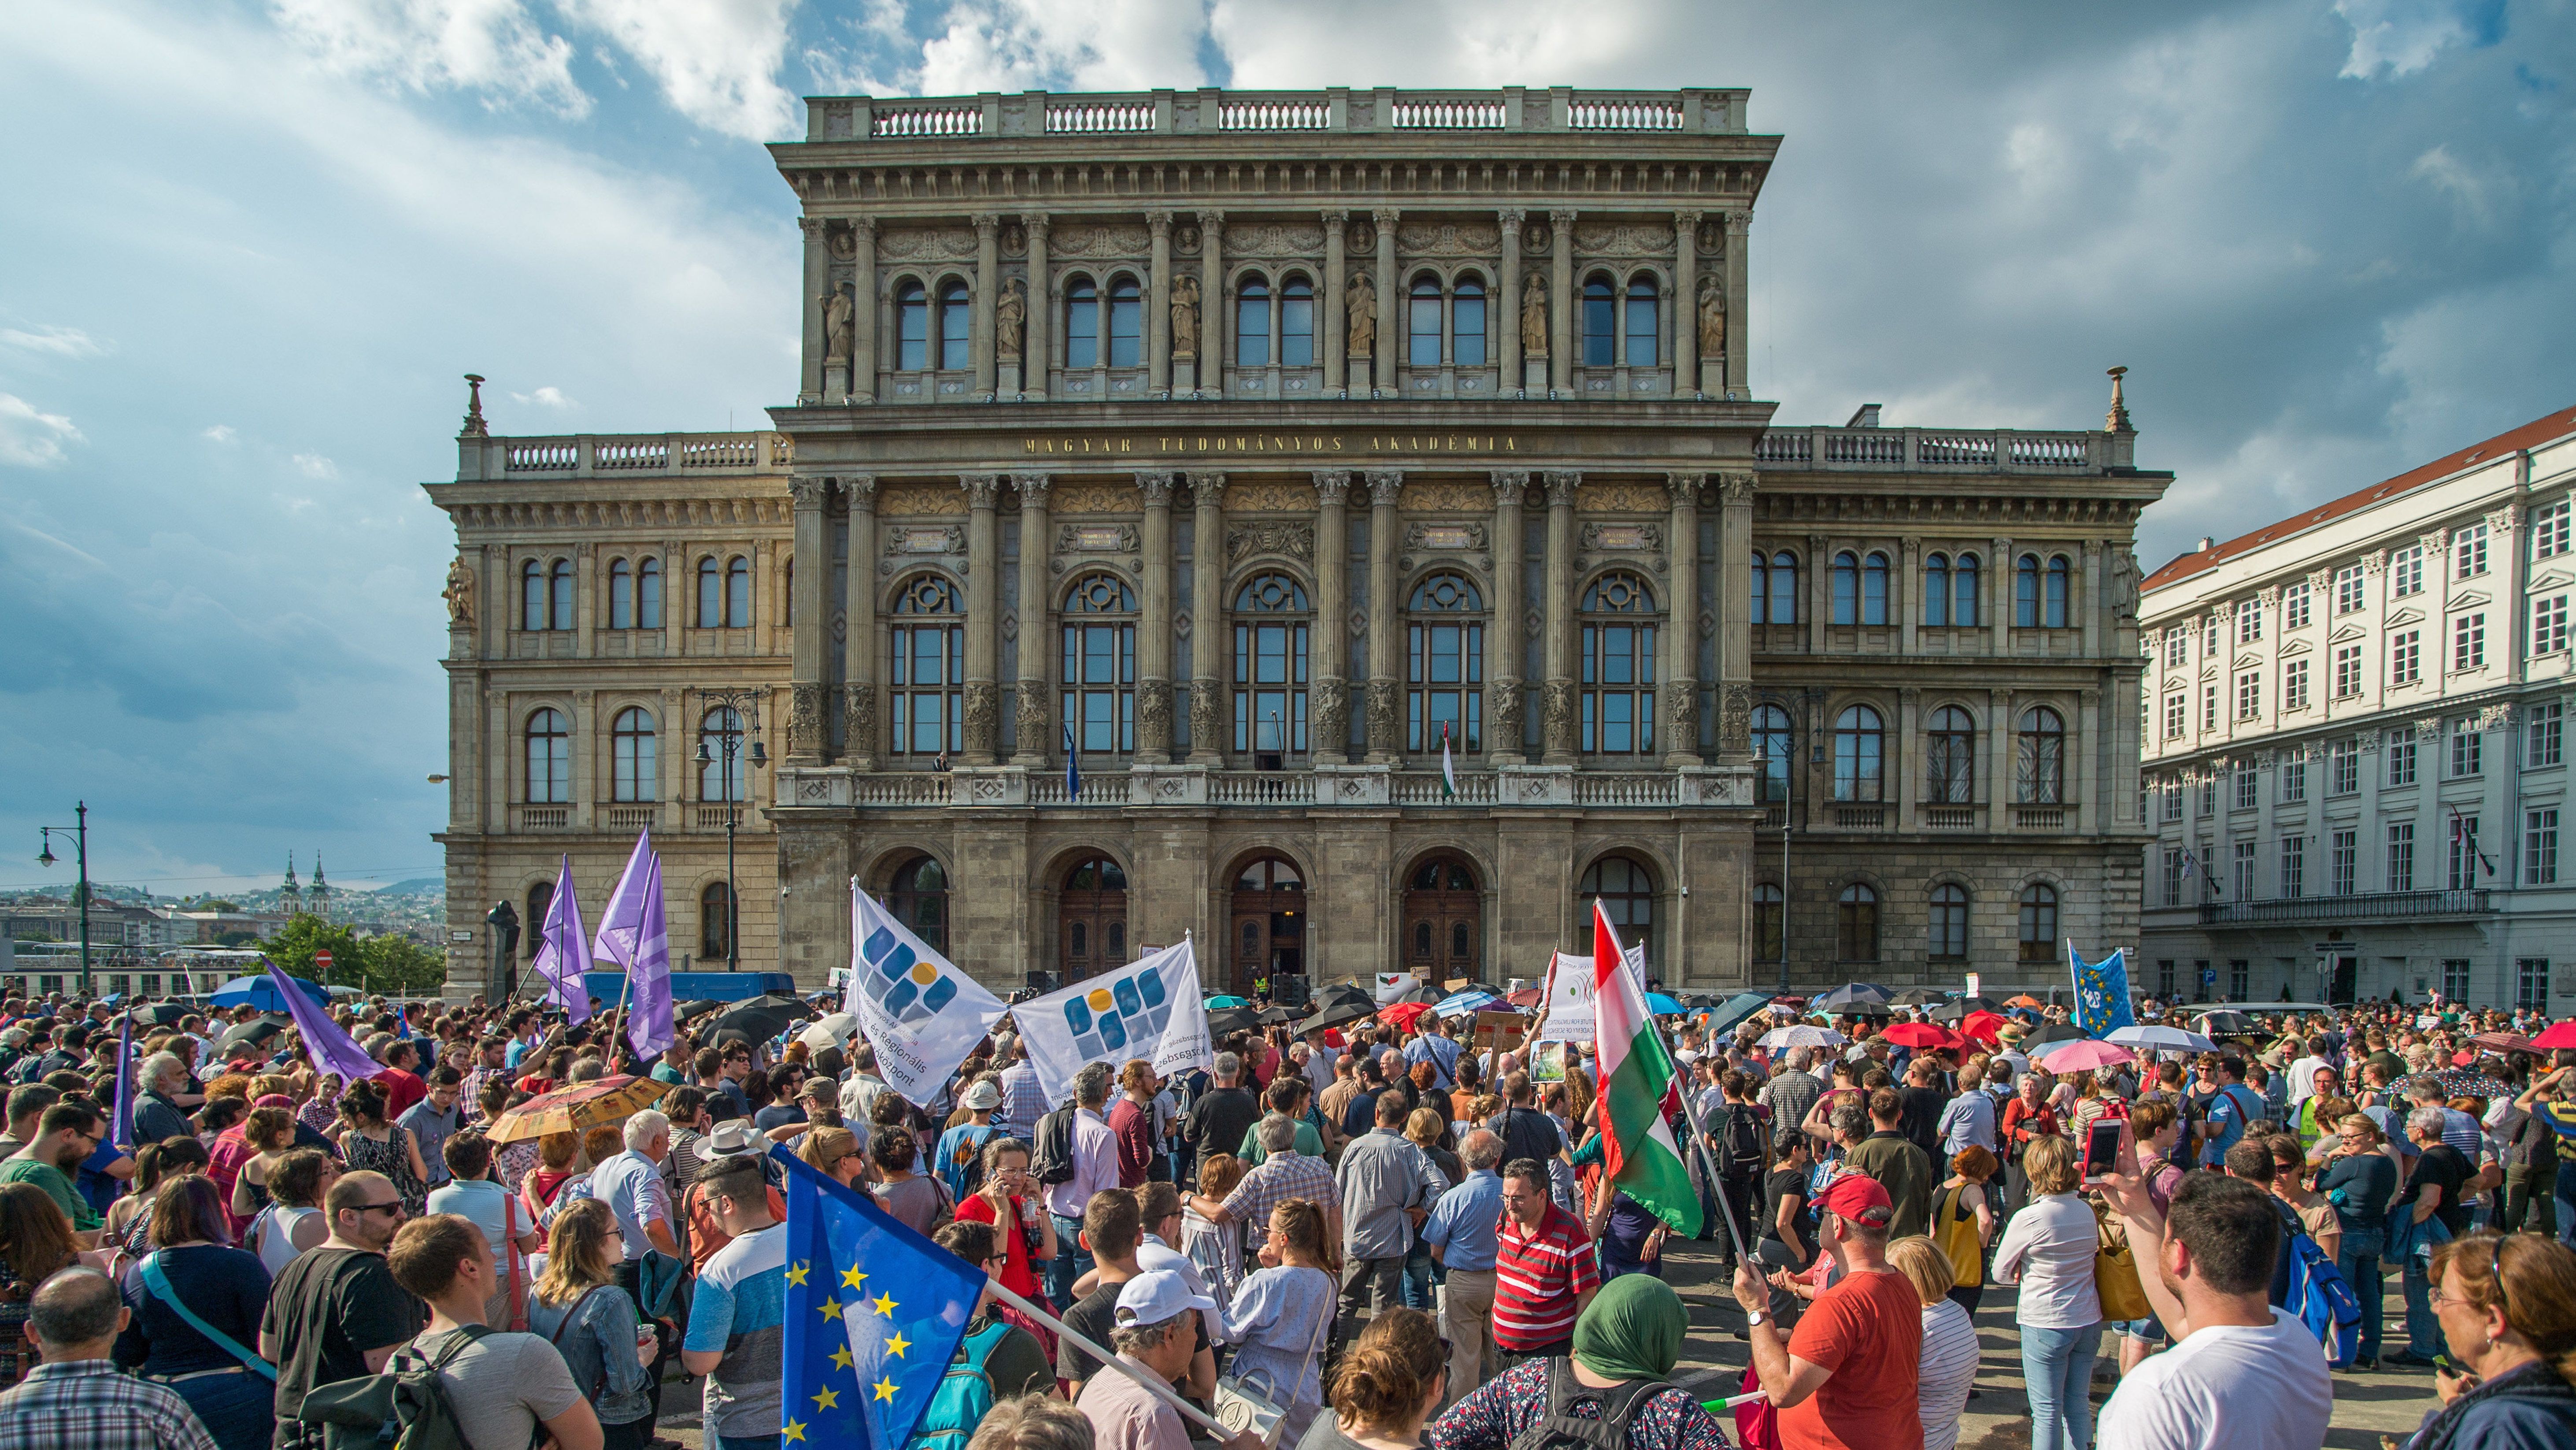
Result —
<instances>
[{"instance_id":1,"label":"white building with reddish roof at the right edge","mask_svg":"<svg viewBox=\"0 0 2576 1450\"><path fill-rule=\"evenodd\" d=\"M2146 579L2143 989L2571 1007L2571 487L2558 410Z\"/></svg>"}]
</instances>

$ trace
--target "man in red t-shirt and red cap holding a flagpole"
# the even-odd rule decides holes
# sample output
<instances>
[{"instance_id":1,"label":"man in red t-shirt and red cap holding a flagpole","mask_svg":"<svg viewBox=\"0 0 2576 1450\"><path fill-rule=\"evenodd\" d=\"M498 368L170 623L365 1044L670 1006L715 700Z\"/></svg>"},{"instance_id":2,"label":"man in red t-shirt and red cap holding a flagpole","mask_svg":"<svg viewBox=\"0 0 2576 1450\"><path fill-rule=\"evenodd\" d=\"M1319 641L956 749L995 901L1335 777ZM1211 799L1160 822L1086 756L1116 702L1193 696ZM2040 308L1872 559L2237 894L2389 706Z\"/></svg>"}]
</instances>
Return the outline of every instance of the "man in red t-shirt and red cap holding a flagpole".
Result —
<instances>
[{"instance_id":1,"label":"man in red t-shirt and red cap holding a flagpole","mask_svg":"<svg viewBox=\"0 0 2576 1450\"><path fill-rule=\"evenodd\" d=\"M1888 1190L1868 1174L1842 1174L1814 1205L1842 1277L1816 1295L1788 1344L1765 1313L1770 1285L1752 1265L1736 1265L1736 1303L1749 1321L1754 1375L1780 1406L1780 1442L1788 1450L1922 1450L1914 1406L1922 1298L1888 1267L1896 1221Z\"/></svg>"}]
</instances>

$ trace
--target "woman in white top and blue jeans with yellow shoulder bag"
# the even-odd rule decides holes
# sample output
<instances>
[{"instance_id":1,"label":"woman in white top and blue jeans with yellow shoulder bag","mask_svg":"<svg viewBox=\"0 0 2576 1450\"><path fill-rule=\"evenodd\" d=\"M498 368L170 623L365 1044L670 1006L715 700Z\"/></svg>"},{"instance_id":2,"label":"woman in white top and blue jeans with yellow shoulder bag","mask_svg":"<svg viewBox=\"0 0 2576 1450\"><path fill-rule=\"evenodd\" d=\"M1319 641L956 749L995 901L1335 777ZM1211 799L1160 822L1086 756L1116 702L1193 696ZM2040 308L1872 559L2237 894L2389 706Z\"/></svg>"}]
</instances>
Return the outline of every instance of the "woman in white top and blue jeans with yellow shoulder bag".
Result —
<instances>
[{"instance_id":1,"label":"woman in white top and blue jeans with yellow shoulder bag","mask_svg":"<svg viewBox=\"0 0 2576 1450\"><path fill-rule=\"evenodd\" d=\"M2014 1319L2022 1326L2030 1450L2084 1450L2092 1445L2087 1386L2102 1329L2092 1259L2102 1239L2092 1205L2076 1192L2074 1138L2035 1138L2022 1149L2022 1172L2032 1198L1994 1247L1994 1283L2022 1285Z\"/></svg>"}]
</instances>

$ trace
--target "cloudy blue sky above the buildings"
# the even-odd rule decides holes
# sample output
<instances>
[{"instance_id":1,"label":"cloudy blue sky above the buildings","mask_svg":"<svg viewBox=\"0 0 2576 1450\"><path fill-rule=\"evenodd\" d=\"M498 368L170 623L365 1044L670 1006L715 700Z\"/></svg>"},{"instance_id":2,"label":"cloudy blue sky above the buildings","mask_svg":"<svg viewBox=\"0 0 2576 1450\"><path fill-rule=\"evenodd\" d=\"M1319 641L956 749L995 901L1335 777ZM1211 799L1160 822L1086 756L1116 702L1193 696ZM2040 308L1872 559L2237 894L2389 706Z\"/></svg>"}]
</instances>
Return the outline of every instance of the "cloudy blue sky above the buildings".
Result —
<instances>
[{"instance_id":1,"label":"cloudy blue sky above the buildings","mask_svg":"<svg viewBox=\"0 0 2576 1450\"><path fill-rule=\"evenodd\" d=\"M2576 397L2576 0L13 0L0 889L75 798L160 891L433 876L456 376L755 425L799 95L1329 82L1754 88L1757 394L2097 428L2125 363L2148 567Z\"/></svg>"}]
</instances>

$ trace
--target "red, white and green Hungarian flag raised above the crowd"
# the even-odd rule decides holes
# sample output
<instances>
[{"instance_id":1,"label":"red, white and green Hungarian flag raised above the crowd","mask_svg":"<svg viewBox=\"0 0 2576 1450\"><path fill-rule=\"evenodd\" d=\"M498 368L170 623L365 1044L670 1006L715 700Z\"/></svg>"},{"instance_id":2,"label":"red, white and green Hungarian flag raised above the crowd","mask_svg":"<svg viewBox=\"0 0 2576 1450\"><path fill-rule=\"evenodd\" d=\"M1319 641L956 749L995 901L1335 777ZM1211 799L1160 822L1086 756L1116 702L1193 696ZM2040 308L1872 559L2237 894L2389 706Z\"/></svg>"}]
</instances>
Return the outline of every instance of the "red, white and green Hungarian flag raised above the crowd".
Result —
<instances>
[{"instance_id":1,"label":"red, white and green Hungarian flag raised above the crowd","mask_svg":"<svg viewBox=\"0 0 2576 1450\"><path fill-rule=\"evenodd\" d=\"M1672 1136L1680 1074L1646 1015L1646 984L1600 901L1592 901L1592 1053L1602 1082L1602 1167L1610 1182L1685 1239L1700 1234L1700 1195Z\"/></svg>"}]
</instances>

